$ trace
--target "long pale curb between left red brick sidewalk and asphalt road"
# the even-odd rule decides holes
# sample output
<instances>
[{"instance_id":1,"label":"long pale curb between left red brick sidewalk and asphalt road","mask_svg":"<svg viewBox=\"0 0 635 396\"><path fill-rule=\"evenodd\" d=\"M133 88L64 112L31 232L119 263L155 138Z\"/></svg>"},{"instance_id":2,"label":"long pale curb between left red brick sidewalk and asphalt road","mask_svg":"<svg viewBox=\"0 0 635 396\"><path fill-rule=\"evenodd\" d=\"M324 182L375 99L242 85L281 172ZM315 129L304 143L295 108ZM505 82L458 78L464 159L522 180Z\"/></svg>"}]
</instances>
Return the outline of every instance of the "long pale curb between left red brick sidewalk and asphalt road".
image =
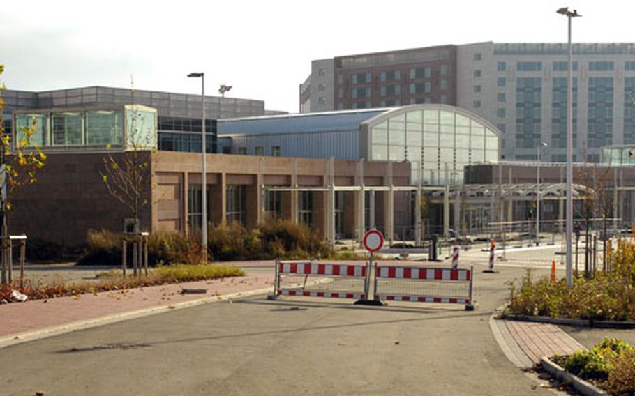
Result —
<instances>
[{"instance_id":1,"label":"long pale curb between left red brick sidewalk and asphalt road","mask_svg":"<svg viewBox=\"0 0 635 396\"><path fill-rule=\"evenodd\" d=\"M211 296L211 297L200 298L198 300L184 301L183 303L159 305L156 307L144 308L143 310L122 312L120 314L113 314L106 317L98 317L94 319L86 319L83 321L75 321L75 322L65 323L65 324L61 324L57 326L41 328L40 330L33 330L27 333L17 333L13 335L6 335L3 337L0 337L0 349L10 347L11 345L15 345L15 344L22 344L22 342L41 340L43 338L53 337L54 335L62 335L66 333L71 333L75 330L84 330L87 328L105 326L107 324L117 323L120 321L147 317L154 314L160 314L162 312L180 310L180 309L188 308L188 307L195 307L197 305L218 303L221 301L232 300L234 298L243 298L243 297L257 296L259 294L267 294L269 291L271 291L271 287L267 287L266 289L255 289L250 291L239 291L232 294L223 294L221 296Z\"/></svg>"}]
</instances>

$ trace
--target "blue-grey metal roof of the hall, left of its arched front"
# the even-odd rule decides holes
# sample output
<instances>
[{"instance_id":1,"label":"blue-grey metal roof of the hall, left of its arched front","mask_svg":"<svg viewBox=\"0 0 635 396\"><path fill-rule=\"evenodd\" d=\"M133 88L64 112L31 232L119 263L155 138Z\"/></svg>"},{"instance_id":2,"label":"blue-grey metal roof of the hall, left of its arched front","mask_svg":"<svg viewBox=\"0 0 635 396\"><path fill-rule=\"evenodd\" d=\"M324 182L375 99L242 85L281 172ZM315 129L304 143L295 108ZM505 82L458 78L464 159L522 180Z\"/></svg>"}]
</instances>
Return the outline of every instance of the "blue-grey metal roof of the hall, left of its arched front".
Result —
<instances>
[{"instance_id":1,"label":"blue-grey metal roof of the hall, left of its arched front","mask_svg":"<svg viewBox=\"0 0 635 396\"><path fill-rule=\"evenodd\" d=\"M218 121L218 135L259 135L357 130L359 124L388 109L292 114Z\"/></svg>"}]
</instances>

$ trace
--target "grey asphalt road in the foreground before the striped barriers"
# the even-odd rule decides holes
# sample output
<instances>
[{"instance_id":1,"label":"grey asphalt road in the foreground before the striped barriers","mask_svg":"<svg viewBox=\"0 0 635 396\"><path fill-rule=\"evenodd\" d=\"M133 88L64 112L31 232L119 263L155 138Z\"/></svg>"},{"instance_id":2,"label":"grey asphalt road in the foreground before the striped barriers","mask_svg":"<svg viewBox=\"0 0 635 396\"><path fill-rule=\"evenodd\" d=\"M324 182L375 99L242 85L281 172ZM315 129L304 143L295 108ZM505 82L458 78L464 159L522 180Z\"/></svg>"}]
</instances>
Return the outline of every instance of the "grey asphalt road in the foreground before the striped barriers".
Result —
<instances>
[{"instance_id":1,"label":"grey asphalt road in the foreground before the striped barriers","mask_svg":"<svg viewBox=\"0 0 635 396\"><path fill-rule=\"evenodd\" d=\"M477 273L474 312L257 297L17 344L0 349L0 393L553 394L509 363L488 326L523 272Z\"/></svg>"}]
</instances>

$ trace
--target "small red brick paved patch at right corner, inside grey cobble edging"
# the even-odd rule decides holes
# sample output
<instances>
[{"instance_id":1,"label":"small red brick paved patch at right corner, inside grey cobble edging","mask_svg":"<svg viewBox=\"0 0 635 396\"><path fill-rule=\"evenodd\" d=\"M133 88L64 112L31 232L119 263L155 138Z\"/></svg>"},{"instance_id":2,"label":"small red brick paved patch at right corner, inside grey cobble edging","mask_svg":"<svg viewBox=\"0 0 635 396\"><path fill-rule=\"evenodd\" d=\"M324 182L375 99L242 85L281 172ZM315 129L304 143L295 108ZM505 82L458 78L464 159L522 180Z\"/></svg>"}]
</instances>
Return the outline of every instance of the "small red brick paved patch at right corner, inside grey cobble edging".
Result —
<instances>
[{"instance_id":1,"label":"small red brick paved patch at right corner, inside grey cobble edging","mask_svg":"<svg viewBox=\"0 0 635 396\"><path fill-rule=\"evenodd\" d=\"M505 321L509 333L534 363L543 356L569 355L583 346L558 326L548 323Z\"/></svg>"}]
</instances>

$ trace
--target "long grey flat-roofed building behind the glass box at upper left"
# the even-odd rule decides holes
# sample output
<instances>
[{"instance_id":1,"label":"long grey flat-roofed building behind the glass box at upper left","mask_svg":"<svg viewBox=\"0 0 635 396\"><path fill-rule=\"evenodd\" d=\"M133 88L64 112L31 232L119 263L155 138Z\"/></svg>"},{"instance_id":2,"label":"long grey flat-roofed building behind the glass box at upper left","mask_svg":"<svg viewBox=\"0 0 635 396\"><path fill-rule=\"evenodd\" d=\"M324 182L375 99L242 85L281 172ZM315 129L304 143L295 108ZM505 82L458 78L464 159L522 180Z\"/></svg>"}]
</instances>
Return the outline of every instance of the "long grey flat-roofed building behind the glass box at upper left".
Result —
<instances>
[{"instance_id":1,"label":"long grey flat-roofed building behind the glass box at upper left","mask_svg":"<svg viewBox=\"0 0 635 396\"><path fill-rule=\"evenodd\" d=\"M13 112L27 116L37 110L43 128L57 128L62 121L54 121L52 110L65 109L67 119L80 119L81 109L112 107L112 105L146 105L158 112L158 147L165 151L201 151L202 98L200 95L107 86L60 89L55 91L2 91L5 101L2 119L6 133L13 130ZM43 109L48 109L42 112ZM207 151L216 153L216 119L238 116L283 114L264 109L264 101L238 98L205 97ZM49 114L49 115L47 115ZM62 113L58 113L61 120ZM57 123L56 123L57 122ZM83 128L83 127L82 127ZM59 142L66 145L66 142Z\"/></svg>"}]
</instances>

